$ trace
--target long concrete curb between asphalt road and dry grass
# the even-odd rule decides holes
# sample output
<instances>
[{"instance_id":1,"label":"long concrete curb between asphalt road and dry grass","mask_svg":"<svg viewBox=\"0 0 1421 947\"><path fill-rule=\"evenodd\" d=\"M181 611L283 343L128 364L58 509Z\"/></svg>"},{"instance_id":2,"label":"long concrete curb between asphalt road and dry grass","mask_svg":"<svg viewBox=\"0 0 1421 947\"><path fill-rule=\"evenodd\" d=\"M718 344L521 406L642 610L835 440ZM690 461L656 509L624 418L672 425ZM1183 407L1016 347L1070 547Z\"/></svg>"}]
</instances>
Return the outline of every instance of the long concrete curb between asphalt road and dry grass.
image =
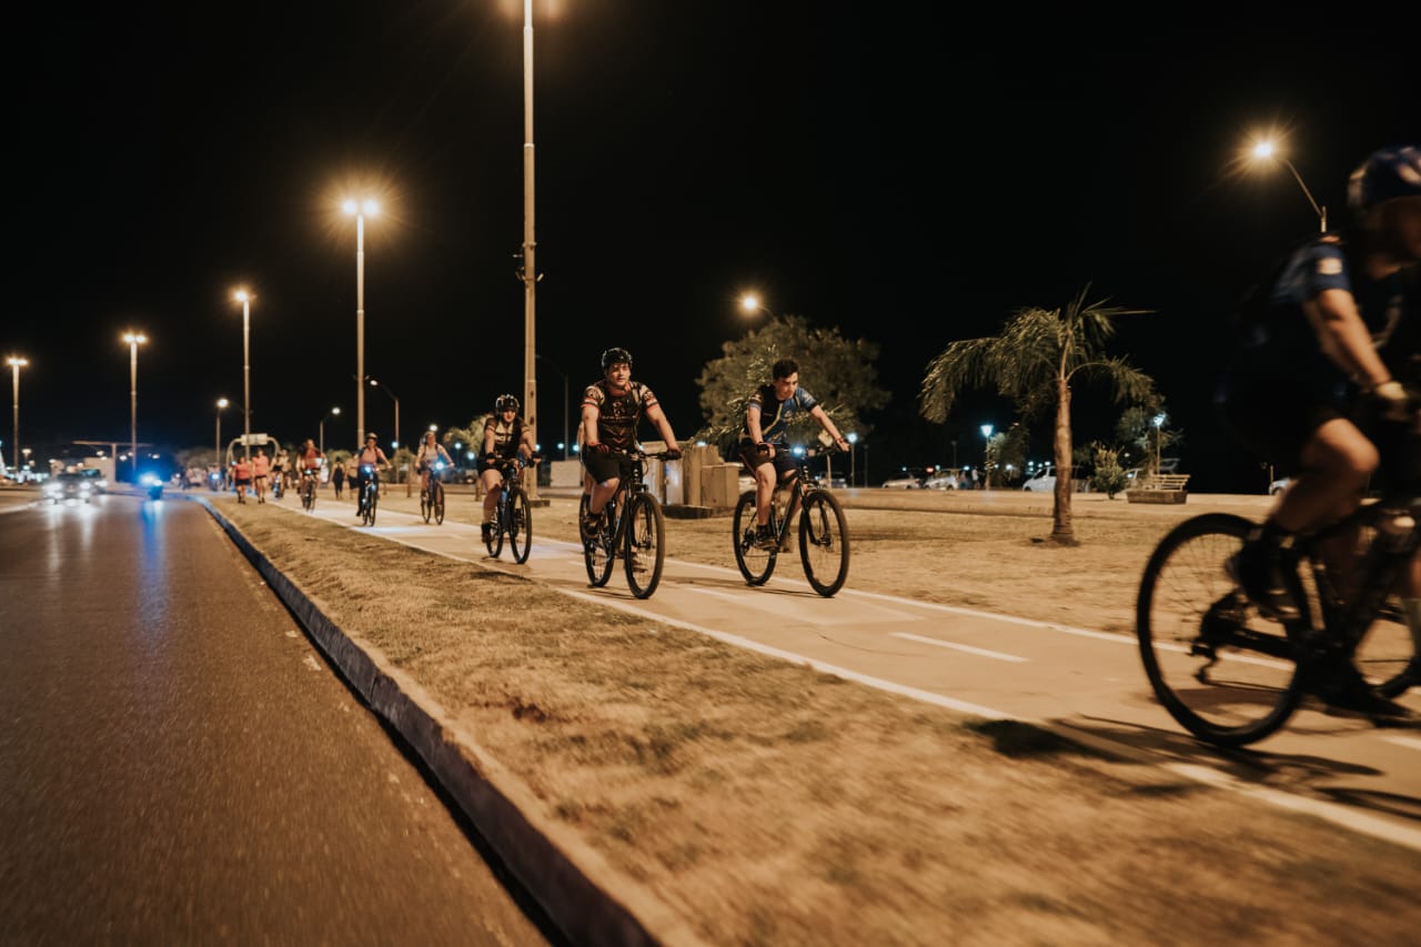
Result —
<instances>
[{"instance_id":1,"label":"long concrete curb between asphalt road and dry grass","mask_svg":"<svg viewBox=\"0 0 1421 947\"><path fill-rule=\"evenodd\" d=\"M409 744L439 785L470 819L529 894L576 944L695 944L699 938L669 909L635 883L618 883L631 897L617 897L593 876L618 874L601 856L560 826L534 825L524 812L537 801L472 741L438 719L438 708L418 684L385 673L290 579L276 569L247 537L205 498L196 498L233 545L256 567L307 634L340 668L351 687ZM520 808L522 803L522 808ZM625 901L632 901L628 906ZM645 923L644 920L645 919ZM654 927L662 931L652 936Z\"/></svg>"}]
</instances>

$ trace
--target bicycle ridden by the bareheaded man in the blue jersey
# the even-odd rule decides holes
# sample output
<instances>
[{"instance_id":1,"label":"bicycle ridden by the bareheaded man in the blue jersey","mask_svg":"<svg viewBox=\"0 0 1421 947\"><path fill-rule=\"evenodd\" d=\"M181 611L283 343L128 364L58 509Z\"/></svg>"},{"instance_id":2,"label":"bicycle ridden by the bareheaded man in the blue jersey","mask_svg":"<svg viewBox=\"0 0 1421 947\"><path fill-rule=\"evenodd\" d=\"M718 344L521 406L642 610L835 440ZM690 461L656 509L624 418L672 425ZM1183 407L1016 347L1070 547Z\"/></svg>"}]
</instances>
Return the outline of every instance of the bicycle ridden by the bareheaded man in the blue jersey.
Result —
<instances>
[{"instance_id":1,"label":"bicycle ridden by the bareheaded man in the blue jersey","mask_svg":"<svg viewBox=\"0 0 1421 947\"><path fill-rule=\"evenodd\" d=\"M799 547L804 577L826 599L844 587L848 579L848 523L838 499L818 485L809 471L809 456L794 458L799 476L791 486L774 486L770 502L773 549L762 549L756 539L756 491L740 493L735 505L735 565L752 586L763 586L774 573L782 552L790 550L790 522L799 512Z\"/></svg>"}]
</instances>

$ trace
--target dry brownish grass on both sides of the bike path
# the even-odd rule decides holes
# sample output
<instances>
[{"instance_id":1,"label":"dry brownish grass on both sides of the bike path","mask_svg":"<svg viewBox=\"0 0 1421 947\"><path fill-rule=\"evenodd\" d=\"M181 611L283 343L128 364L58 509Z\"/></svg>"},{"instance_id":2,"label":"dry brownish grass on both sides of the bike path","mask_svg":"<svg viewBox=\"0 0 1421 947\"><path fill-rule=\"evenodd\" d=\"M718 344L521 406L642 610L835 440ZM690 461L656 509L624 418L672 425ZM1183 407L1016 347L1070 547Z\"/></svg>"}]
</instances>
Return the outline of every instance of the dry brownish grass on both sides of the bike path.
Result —
<instances>
[{"instance_id":1,"label":"dry brownish grass on both sides of the bike path","mask_svg":"<svg viewBox=\"0 0 1421 947\"><path fill-rule=\"evenodd\" d=\"M223 513L453 712L543 818L706 941L1414 943L1421 930L1405 849L270 506ZM1160 523L1079 520L1084 546L1060 549L1034 542L1050 528L1039 518L853 510L851 583L1128 630ZM554 501L537 526L571 537L571 505ZM668 529L675 555L726 563L723 519ZM1086 570L1088 600L1063 600Z\"/></svg>"}]
</instances>

